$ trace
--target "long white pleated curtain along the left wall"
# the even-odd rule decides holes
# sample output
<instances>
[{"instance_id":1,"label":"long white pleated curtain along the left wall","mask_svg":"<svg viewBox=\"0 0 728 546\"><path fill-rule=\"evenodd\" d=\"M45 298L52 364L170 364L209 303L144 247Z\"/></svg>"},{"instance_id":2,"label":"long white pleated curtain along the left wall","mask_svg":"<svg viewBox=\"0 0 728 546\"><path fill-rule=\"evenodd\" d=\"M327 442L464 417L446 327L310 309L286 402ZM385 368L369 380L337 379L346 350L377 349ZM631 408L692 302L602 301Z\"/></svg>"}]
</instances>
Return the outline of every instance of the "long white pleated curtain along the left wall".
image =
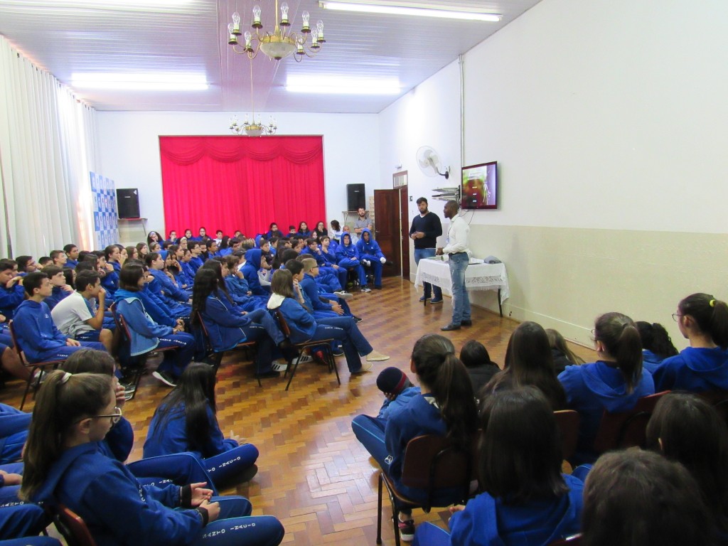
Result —
<instances>
[{"instance_id":1,"label":"long white pleated curtain along the left wall","mask_svg":"<svg viewBox=\"0 0 728 546\"><path fill-rule=\"evenodd\" d=\"M92 250L95 110L0 36L0 257Z\"/></svg>"}]
</instances>

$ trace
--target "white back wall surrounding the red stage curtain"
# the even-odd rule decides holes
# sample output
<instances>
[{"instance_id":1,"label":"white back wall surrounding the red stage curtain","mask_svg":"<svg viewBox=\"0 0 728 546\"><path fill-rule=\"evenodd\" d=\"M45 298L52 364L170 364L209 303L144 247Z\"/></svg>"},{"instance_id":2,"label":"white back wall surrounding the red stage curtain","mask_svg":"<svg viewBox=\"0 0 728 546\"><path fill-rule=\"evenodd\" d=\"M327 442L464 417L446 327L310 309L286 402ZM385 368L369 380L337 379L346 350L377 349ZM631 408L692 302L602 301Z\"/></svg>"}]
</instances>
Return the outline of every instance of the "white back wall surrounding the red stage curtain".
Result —
<instances>
[{"instance_id":1,"label":"white back wall surrounding the red stage curtain","mask_svg":"<svg viewBox=\"0 0 728 546\"><path fill-rule=\"evenodd\" d=\"M138 187L141 215L149 218L148 229L164 230L159 135L229 135L231 115L229 112L98 112L100 173L114 180L117 188ZM342 219L341 211L347 208L348 183L365 183L367 195L382 187L376 114L282 113L275 116L278 134L323 135L327 220Z\"/></svg>"}]
</instances>

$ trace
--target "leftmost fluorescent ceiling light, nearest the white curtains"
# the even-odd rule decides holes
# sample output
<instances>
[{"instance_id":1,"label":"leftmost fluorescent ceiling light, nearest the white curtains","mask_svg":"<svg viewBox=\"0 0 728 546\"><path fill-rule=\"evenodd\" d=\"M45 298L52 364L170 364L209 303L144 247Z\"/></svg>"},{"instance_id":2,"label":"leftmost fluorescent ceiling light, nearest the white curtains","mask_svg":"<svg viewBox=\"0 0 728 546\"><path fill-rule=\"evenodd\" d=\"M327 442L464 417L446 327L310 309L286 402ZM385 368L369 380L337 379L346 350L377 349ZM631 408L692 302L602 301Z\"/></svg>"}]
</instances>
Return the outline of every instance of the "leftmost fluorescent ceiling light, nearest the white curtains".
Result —
<instances>
[{"instance_id":1,"label":"leftmost fluorescent ceiling light, nearest the white curtains","mask_svg":"<svg viewBox=\"0 0 728 546\"><path fill-rule=\"evenodd\" d=\"M79 89L116 89L141 91L204 91L207 78L182 72L146 72L143 74L74 73L71 87Z\"/></svg>"}]
</instances>

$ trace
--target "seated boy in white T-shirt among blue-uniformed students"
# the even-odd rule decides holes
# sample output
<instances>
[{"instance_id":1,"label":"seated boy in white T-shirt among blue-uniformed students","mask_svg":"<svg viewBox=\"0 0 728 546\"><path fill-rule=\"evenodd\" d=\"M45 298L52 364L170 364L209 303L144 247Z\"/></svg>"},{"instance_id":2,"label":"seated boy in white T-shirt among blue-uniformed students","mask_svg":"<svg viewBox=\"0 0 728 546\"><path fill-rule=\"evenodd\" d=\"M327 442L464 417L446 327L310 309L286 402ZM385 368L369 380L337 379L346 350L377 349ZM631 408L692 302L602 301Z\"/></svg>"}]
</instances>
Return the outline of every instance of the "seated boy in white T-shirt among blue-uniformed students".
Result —
<instances>
[{"instance_id":1,"label":"seated boy in white T-shirt among blue-uniformed students","mask_svg":"<svg viewBox=\"0 0 728 546\"><path fill-rule=\"evenodd\" d=\"M56 304L51 317L58 330L79 341L100 341L111 352L114 334L103 328L106 290L101 286L97 272L76 274L76 291ZM98 298L98 307L91 303Z\"/></svg>"}]
</instances>

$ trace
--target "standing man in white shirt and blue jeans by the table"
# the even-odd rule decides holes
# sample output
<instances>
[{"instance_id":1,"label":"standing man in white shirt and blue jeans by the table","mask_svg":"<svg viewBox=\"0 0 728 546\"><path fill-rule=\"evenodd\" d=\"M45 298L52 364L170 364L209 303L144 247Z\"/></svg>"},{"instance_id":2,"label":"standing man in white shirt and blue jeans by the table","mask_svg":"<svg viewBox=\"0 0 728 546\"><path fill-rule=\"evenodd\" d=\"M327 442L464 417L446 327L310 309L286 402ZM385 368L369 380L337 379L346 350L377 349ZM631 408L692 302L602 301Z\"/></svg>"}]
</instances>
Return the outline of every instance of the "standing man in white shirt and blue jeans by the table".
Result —
<instances>
[{"instance_id":1,"label":"standing man in white shirt and blue jeans by the table","mask_svg":"<svg viewBox=\"0 0 728 546\"><path fill-rule=\"evenodd\" d=\"M436 254L448 255L450 265L450 278L453 289L453 317L451 323L440 328L443 332L459 330L461 326L472 325L470 319L470 298L465 288L465 270L470 263L468 254L468 238L470 237L470 226L465 223L462 216L458 215L460 206L457 201L448 201L445 204L443 214L450 218L448 229L448 240L445 247L438 248Z\"/></svg>"}]
</instances>

